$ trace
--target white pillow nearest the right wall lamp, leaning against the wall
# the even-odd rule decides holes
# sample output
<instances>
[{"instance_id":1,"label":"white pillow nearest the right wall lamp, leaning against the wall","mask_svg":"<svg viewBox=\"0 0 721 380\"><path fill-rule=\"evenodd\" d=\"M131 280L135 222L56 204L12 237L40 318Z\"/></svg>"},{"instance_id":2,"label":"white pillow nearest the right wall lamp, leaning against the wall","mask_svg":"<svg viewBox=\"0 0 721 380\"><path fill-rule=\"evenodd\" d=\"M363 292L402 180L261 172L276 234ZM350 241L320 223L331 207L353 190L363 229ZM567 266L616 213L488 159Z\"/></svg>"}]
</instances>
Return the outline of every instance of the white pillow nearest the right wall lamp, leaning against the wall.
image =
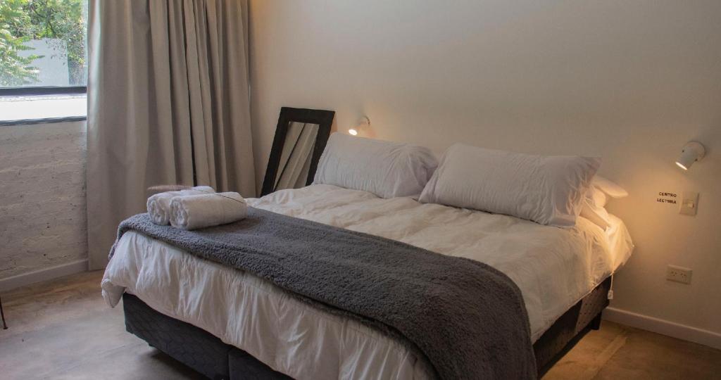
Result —
<instances>
[{"instance_id":1,"label":"white pillow nearest the right wall lamp, leaning against the wall","mask_svg":"<svg viewBox=\"0 0 721 380\"><path fill-rule=\"evenodd\" d=\"M456 143L443 154L420 201L574 226L599 166L601 159L593 157L534 156Z\"/></svg>"}]
</instances>

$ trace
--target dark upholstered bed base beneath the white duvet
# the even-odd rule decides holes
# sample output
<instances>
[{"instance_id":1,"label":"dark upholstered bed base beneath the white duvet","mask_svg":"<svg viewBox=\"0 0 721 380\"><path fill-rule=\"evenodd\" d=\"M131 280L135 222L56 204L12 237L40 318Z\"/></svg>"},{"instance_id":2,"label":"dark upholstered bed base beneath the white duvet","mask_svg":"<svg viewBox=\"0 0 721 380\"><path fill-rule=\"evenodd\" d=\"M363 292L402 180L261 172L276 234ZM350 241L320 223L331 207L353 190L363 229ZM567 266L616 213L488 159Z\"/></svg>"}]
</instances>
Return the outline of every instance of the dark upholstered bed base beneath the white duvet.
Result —
<instances>
[{"instance_id":1,"label":"dark upholstered bed base beneath the white duvet","mask_svg":"<svg viewBox=\"0 0 721 380\"><path fill-rule=\"evenodd\" d=\"M562 358L588 330L598 330L609 305L606 278L565 312L534 344L539 377ZM167 317L131 294L123 294L125 329L211 379L290 379L192 324Z\"/></svg>"}]
</instances>

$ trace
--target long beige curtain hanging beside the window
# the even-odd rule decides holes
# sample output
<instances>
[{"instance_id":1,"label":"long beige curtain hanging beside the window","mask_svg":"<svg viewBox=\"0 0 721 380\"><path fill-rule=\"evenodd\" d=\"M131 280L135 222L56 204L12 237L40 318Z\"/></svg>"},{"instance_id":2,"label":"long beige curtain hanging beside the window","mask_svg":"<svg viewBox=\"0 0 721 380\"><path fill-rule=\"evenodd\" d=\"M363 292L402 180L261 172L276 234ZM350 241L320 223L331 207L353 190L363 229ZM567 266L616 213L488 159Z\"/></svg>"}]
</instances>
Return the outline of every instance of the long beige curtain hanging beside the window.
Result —
<instances>
[{"instance_id":1,"label":"long beige curtain hanging beside the window","mask_svg":"<svg viewBox=\"0 0 721 380\"><path fill-rule=\"evenodd\" d=\"M90 1L91 269L149 186L255 195L247 52L247 1Z\"/></svg>"}]
</instances>

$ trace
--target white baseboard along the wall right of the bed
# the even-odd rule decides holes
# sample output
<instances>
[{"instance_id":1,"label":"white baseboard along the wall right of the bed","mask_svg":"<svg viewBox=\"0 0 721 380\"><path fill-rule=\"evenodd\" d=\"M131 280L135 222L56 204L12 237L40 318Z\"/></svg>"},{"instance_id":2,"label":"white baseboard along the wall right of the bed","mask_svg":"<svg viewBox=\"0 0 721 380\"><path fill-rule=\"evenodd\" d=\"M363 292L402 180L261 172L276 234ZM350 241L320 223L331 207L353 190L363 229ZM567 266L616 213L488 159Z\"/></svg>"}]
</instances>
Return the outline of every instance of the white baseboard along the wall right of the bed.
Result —
<instances>
[{"instance_id":1,"label":"white baseboard along the wall right of the bed","mask_svg":"<svg viewBox=\"0 0 721 380\"><path fill-rule=\"evenodd\" d=\"M721 334L717 332L697 329L685 324L669 322L664 319L648 317L647 315L613 307L607 307L603 310L603 319L721 350Z\"/></svg>"}]
</instances>

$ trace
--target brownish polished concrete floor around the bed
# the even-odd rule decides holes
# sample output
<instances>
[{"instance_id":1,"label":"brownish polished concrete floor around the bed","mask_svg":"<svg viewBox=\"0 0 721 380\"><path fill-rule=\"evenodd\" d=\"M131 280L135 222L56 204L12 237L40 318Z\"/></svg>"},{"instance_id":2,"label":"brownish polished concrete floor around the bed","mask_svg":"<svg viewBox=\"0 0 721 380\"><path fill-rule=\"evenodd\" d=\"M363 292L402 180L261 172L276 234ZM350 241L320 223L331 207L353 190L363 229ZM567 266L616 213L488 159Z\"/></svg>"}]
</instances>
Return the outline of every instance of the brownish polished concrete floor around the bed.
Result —
<instances>
[{"instance_id":1,"label":"brownish polished concrete floor around the bed","mask_svg":"<svg viewBox=\"0 0 721 380\"><path fill-rule=\"evenodd\" d=\"M200 379L125 332L100 296L102 271L2 294L0 379ZM559 361L552 379L721 379L721 351L603 322Z\"/></svg>"}]
</instances>

